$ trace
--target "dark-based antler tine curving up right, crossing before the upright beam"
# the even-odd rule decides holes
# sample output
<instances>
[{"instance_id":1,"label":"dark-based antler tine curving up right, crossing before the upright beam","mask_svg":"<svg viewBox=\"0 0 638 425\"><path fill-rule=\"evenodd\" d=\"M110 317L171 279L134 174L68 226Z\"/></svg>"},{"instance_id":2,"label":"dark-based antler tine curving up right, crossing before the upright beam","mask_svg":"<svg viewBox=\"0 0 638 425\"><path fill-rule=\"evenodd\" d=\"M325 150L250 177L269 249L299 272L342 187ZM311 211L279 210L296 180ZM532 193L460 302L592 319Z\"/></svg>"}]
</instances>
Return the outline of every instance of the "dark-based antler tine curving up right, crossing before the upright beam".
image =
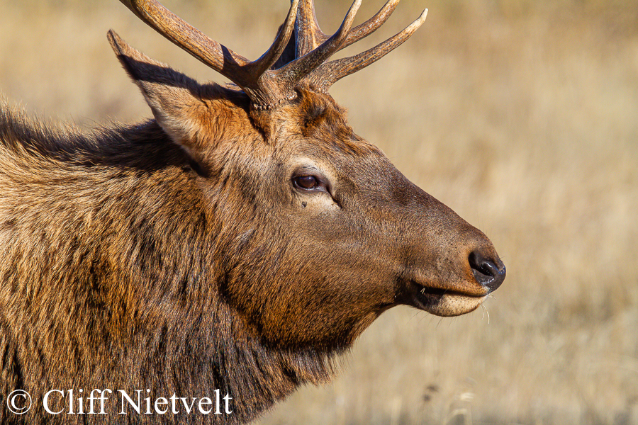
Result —
<instances>
[{"instance_id":1,"label":"dark-based antler tine curving up right, crossing before the upright beam","mask_svg":"<svg viewBox=\"0 0 638 425\"><path fill-rule=\"evenodd\" d=\"M320 64L323 64L328 57L339 50L339 47L341 47L347 38L350 27L352 27L354 15L357 13L357 10L359 10L361 1L362 0L354 0L341 26L332 37L325 40L325 42L315 50L308 52L308 54L303 57L299 57L274 71L274 73L281 76L279 77L280 84L293 88L301 79L310 74L310 72L313 72L314 69L320 67Z\"/></svg>"}]
</instances>

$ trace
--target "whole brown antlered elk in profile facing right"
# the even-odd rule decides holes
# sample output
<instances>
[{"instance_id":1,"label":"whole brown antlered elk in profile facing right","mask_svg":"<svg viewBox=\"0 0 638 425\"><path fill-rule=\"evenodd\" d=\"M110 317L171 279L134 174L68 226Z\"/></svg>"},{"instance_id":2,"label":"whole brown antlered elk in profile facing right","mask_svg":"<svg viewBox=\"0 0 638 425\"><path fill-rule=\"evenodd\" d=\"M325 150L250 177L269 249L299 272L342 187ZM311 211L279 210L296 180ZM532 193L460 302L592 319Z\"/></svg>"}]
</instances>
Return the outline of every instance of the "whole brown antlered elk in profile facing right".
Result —
<instances>
[{"instance_id":1,"label":"whole brown antlered elk in profile facing right","mask_svg":"<svg viewBox=\"0 0 638 425\"><path fill-rule=\"evenodd\" d=\"M4 102L0 423L243 424L328 381L389 308L464 314L503 282L488 237L354 134L328 94L425 11L330 61L398 0L352 27L355 0L330 36L312 0L292 0L250 62L155 0L121 1L233 84L199 84L111 30L153 119L82 132Z\"/></svg>"}]
</instances>

